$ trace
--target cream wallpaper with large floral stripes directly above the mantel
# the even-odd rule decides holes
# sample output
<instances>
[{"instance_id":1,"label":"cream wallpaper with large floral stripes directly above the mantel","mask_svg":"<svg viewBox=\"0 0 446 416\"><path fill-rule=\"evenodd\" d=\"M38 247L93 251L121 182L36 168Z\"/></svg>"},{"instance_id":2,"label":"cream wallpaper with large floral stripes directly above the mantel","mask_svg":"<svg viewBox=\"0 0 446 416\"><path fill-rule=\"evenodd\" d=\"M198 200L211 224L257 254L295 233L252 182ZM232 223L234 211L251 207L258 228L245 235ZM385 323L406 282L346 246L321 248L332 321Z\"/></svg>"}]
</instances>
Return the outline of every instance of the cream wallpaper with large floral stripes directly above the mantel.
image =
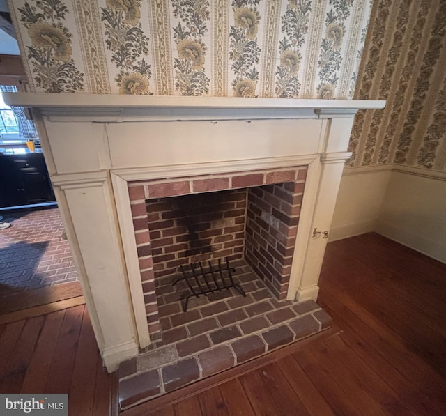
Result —
<instances>
[{"instance_id":1,"label":"cream wallpaper with large floral stripes directly above the mantel","mask_svg":"<svg viewBox=\"0 0 446 416\"><path fill-rule=\"evenodd\" d=\"M352 98L371 0L9 0L32 91Z\"/></svg>"}]
</instances>

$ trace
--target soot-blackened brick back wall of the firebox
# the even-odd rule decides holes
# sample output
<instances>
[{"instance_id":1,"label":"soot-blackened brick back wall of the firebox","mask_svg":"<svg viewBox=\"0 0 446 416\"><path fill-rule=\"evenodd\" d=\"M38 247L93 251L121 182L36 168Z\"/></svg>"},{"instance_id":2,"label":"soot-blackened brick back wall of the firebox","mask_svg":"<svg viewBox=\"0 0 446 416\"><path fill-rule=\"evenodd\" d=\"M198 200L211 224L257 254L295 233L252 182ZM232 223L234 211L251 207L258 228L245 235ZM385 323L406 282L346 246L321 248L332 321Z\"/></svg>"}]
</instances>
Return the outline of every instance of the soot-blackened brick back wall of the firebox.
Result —
<instances>
[{"instance_id":1,"label":"soot-blackened brick back wall of the firebox","mask_svg":"<svg viewBox=\"0 0 446 416\"><path fill-rule=\"evenodd\" d=\"M241 259L246 197L229 190L146 201L155 279L191 262Z\"/></svg>"}]
</instances>

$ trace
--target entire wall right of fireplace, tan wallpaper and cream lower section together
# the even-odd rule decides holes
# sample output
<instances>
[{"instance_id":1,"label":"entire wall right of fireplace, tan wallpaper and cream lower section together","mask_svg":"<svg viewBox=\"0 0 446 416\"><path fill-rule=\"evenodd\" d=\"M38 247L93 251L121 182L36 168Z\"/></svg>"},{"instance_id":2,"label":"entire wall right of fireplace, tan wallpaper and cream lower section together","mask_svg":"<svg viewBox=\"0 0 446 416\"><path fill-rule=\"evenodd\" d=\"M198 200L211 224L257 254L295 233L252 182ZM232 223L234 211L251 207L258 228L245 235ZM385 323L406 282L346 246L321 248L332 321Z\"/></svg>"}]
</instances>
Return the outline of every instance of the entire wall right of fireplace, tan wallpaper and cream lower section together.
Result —
<instances>
[{"instance_id":1,"label":"entire wall right of fireplace, tan wallpaper and cream lower section together","mask_svg":"<svg viewBox=\"0 0 446 416\"><path fill-rule=\"evenodd\" d=\"M446 261L445 65L445 1L374 2L355 98L387 105L355 118L330 240L377 231Z\"/></svg>"}]
</instances>

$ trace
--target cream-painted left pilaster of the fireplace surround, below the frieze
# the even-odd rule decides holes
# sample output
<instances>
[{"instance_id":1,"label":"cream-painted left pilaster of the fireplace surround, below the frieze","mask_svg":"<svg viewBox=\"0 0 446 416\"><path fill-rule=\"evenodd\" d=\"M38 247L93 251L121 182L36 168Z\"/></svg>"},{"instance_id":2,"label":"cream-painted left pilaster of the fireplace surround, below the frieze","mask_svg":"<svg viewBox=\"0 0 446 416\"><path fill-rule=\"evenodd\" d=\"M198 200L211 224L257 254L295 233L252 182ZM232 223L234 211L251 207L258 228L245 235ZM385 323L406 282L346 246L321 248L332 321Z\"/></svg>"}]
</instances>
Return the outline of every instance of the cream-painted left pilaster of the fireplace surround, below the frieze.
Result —
<instances>
[{"instance_id":1,"label":"cream-painted left pilaster of the fireplace surround, below the frieze","mask_svg":"<svg viewBox=\"0 0 446 416\"><path fill-rule=\"evenodd\" d=\"M139 345L112 186L106 171L62 175L53 184L102 359L114 371Z\"/></svg>"}]
</instances>

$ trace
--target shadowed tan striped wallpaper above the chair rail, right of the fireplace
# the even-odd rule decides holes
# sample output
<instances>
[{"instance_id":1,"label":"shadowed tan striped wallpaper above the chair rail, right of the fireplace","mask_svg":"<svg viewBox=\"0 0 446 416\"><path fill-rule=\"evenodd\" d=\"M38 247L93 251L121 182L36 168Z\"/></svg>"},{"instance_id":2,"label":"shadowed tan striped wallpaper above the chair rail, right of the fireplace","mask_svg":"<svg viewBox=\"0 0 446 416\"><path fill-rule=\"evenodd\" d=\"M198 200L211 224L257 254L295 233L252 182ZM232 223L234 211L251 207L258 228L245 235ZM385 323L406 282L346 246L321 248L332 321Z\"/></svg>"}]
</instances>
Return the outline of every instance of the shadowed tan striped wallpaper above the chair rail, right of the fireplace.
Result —
<instances>
[{"instance_id":1,"label":"shadowed tan striped wallpaper above the chair rail, right of the fireplace","mask_svg":"<svg viewBox=\"0 0 446 416\"><path fill-rule=\"evenodd\" d=\"M355 98L387 100L355 118L349 166L446 171L446 1L374 2Z\"/></svg>"}]
</instances>

